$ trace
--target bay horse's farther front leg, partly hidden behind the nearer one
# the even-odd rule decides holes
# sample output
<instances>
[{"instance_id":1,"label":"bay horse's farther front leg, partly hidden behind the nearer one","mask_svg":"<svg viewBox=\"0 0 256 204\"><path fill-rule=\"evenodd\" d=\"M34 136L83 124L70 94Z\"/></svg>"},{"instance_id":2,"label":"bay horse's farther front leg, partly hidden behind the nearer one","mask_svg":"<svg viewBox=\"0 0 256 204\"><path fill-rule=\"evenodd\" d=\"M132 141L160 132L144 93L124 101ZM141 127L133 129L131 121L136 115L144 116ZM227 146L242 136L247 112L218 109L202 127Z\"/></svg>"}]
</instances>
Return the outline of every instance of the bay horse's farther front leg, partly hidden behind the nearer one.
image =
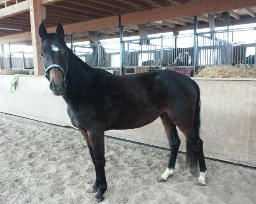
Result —
<instances>
[{"instance_id":1,"label":"bay horse's farther front leg, partly hidden behind the nearer one","mask_svg":"<svg viewBox=\"0 0 256 204\"><path fill-rule=\"evenodd\" d=\"M99 172L97 170L96 163L95 163L94 150L93 150L93 146L92 146L92 144L90 142L89 136L87 134L87 131L81 130L81 133L83 134L84 139L87 142L87 145L88 145L88 148L89 148L89 151L90 151L90 156L91 156L91 158L93 160L93 164L94 164L94 167L95 167L96 181L95 181L95 183L93 184L93 186L90 189L90 193L95 193L95 192L97 192L99 190Z\"/></svg>"}]
</instances>

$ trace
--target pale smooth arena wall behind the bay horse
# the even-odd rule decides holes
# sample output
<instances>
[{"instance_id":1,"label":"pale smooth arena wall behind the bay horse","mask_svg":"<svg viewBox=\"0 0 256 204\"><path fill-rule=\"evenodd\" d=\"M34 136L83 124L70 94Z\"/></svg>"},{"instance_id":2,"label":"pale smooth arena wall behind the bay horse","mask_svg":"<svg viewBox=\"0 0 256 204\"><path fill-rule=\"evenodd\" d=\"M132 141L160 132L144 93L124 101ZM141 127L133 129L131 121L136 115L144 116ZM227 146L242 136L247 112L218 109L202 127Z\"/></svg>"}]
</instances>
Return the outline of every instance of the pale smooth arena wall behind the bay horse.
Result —
<instances>
[{"instance_id":1,"label":"pale smooth arena wall behind the bay horse","mask_svg":"<svg viewBox=\"0 0 256 204\"><path fill-rule=\"evenodd\" d=\"M0 112L57 125L72 126L64 100L54 96L44 76L20 76L14 93L12 76L0 75ZM256 167L256 79L195 78L201 88L201 138L205 156ZM168 148L160 119L108 136ZM185 138L179 131L185 150Z\"/></svg>"}]
</instances>

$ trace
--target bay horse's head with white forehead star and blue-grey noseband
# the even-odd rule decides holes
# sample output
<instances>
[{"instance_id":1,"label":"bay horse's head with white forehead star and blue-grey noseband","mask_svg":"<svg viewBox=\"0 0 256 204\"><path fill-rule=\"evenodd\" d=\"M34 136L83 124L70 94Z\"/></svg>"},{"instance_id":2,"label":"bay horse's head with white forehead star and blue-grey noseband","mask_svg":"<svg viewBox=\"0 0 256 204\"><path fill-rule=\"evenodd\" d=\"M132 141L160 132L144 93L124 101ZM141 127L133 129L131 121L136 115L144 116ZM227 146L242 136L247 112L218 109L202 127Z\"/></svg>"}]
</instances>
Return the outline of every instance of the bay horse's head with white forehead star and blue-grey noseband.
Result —
<instances>
[{"instance_id":1,"label":"bay horse's head with white forehead star and blue-grey noseband","mask_svg":"<svg viewBox=\"0 0 256 204\"><path fill-rule=\"evenodd\" d=\"M58 23L56 33L47 33L44 24L39 26L41 37L41 57L45 76L50 82L54 95L63 95L67 87L67 69L69 48L64 41L64 29Z\"/></svg>"}]
</instances>

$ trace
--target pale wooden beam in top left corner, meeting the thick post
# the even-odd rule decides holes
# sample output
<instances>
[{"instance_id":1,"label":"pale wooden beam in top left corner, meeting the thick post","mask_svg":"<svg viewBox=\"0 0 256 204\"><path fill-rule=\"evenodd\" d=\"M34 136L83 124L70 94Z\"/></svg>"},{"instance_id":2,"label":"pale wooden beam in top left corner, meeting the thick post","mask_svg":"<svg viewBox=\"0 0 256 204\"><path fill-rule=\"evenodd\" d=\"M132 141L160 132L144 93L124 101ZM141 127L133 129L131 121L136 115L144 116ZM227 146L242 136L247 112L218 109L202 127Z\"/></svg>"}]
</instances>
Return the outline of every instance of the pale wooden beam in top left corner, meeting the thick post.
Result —
<instances>
[{"instance_id":1,"label":"pale wooden beam in top left corner, meeting the thick post","mask_svg":"<svg viewBox=\"0 0 256 204\"><path fill-rule=\"evenodd\" d=\"M29 0L0 9L0 19L29 11Z\"/></svg>"}]
</instances>

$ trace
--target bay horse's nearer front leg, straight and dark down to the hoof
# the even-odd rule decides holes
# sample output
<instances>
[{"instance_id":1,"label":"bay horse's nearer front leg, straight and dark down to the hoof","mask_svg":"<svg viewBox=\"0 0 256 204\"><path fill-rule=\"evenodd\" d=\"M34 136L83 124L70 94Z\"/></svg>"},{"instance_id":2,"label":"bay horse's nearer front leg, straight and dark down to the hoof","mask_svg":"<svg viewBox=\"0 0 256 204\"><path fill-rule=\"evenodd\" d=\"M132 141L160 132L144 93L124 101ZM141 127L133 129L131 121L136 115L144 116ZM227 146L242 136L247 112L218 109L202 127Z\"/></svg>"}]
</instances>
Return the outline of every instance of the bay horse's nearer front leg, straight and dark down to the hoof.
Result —
<instances>
[{"instance_id":1,"label":"bay horse's nearer front leg, straight and dark down to the hoof","mask_svg":"<svg viewBox=\"0 0 256 204\"><path fill-rule=\"evenodd\" d=\"M95 169L96 176L99 178L99 191L95 195L94 201L101 202L104 200L103 194L107 190L107 181L105 177L105 146L104 146L104 131L88 131L88 138L90 144L93 148L94 158L95 158ZM98 174L97 174L98 173ZM97 178L96 183L93 187L97 187Z\"/></svg>"}]
</instances>

